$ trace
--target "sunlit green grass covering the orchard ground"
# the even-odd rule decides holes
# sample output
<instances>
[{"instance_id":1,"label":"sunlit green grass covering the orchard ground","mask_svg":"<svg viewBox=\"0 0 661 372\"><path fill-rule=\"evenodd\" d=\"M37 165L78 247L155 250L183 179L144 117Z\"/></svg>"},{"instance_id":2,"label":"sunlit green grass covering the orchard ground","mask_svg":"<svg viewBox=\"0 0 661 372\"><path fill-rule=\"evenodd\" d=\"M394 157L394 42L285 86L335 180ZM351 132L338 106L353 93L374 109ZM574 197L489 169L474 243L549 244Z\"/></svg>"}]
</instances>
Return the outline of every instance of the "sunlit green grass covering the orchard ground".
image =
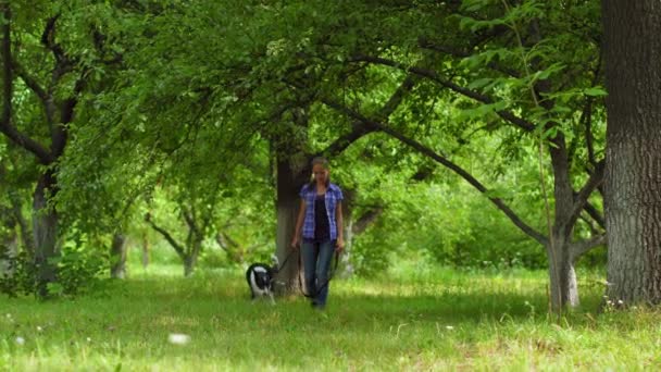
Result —
<instances>
[{"instance_id":1,"label":"sunlit green grass covering the orchard ground","mask_svg":"<svg viewBox=\"0 0 661 372\"><path fill-rule=\"evenodd\" d=\"M182 278L154 265L104 296L0 299L0 369L645 370L661 367L661 313L598 312L597 274L582 308L546 312L546 273L410 270L332 283L324 312L299 297L251 303L241 271ZM190 336L186 345L169 334ZM22 337L25 342L16 342Z\"/></svg>"}]
</instances>

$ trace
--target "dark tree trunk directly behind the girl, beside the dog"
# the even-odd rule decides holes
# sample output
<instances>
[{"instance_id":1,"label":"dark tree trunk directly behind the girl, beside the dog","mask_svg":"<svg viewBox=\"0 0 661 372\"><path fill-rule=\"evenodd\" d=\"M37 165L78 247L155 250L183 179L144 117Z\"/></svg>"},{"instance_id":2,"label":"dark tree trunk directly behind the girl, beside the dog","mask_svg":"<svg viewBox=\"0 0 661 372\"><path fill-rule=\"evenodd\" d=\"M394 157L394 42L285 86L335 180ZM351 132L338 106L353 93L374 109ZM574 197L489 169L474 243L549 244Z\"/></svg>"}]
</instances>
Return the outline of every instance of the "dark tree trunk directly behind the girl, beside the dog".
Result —
<instances>
[{"instance_id":1,"label":"dark tree trunk directly behind the girl, beside the dog","mask_svg":"<svg viewBox=\"0 0 661 372\"><path fill-rule=\"evenodd\" d=\"M278 293L291 293L299 286L299 251L292 251L291 239L296 228L296 218L300 206L299 190L308 182L304 166L292 165L291 159L277 160L277 232L276 232L276 255L284 268L278 274L278 282L284 283L284 287L276 288ZM287 259L288 258L288 259Z\"/></svg>"}]
</instances>

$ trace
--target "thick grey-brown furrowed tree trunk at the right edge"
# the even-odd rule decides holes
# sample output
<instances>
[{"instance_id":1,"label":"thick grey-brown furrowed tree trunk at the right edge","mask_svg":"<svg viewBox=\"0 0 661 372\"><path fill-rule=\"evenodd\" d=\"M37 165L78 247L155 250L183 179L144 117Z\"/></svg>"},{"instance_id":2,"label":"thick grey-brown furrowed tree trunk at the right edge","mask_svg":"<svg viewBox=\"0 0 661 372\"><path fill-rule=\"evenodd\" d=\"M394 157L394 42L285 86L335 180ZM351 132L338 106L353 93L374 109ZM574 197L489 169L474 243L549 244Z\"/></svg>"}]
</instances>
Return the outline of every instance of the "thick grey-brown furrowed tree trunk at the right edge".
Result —
<instances>
[{"instance_id":1,"label":"thick grey-brown furrowed tree trunk at the right edge","mask_svg":"<svg viewBox=\"0 0 661 372\"><path fill-rule=\"evenodd\" d=\"M603 1L611 300L661 303L661 5Z\"/></svg>"}]
</instances>

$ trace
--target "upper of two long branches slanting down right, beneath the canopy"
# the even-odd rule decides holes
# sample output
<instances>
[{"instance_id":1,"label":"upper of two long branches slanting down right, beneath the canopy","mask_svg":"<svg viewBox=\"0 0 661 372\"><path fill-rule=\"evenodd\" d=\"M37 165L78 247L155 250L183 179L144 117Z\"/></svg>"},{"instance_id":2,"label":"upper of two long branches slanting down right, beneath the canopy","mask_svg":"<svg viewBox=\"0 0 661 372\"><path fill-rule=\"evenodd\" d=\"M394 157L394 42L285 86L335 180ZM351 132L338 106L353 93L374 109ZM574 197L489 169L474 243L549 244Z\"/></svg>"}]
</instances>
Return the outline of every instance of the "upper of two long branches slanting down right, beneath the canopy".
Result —
<instances>
[{"instance_id":1,"label":"upper of two long branches slanting down right, beneath the canopy","mask_svg":"<svg viewBox=\"0 0 661 372\"><path fill-rule=\"evenodd\" d=\"M350 59L349 61L350 62L367 62L367 63L383 64L386 66L391 66L391 67L401 70L401 71L410 72L410 73L426 77L452 91L456 91L460 95L472 98L478 102L482 102L485 104L491 104L495 102L490 97L488 97L486 95L461 87L448 79L440 77L440 75L438 75L433 70L427 70L427 69L422 69L422 67L416 67L416 66L407 66L402 63L399 63L399 62L396 62L392 60L388 60L388 59L384 59L384 58L379 58L379 57L370 57L370 55L357 55L357 57ZM535 125L533 123L531 123L522 117L516 116L512 112L500 110L500 111L497 111L496 114L498 114L498 116L506 120L507 122L510 122L526 132L533 132L535 129Z\"/></svg>"}]
</instances>

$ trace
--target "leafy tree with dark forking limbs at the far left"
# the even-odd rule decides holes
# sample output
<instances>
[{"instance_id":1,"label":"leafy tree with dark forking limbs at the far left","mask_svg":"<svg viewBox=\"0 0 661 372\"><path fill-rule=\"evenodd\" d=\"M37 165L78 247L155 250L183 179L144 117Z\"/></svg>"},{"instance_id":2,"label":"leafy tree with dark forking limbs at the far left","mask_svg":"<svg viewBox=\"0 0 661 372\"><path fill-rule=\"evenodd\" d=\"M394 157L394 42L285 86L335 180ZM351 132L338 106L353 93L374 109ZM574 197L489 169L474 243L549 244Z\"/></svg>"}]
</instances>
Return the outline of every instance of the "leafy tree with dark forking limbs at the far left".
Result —
<instances>
[{"instance_id":1,"label":"leafy tree with dark forking limbs at the far left","mask_svg":"<svg viewBox=\"0 0 661 372\"><path fill-rule=\"evenodd\" d=\"M59 255L63 228L61 213L51 201L61 186L59 161L70 142L70 125L82 95L96 87L104 66L117 62L98 23L104 11L103 5L76 1L0 2L0 132L30 153L40 169L33 194L40 297L47 297L48 284L57 281L53 259Z\"/></svg>"}]
</instances>

